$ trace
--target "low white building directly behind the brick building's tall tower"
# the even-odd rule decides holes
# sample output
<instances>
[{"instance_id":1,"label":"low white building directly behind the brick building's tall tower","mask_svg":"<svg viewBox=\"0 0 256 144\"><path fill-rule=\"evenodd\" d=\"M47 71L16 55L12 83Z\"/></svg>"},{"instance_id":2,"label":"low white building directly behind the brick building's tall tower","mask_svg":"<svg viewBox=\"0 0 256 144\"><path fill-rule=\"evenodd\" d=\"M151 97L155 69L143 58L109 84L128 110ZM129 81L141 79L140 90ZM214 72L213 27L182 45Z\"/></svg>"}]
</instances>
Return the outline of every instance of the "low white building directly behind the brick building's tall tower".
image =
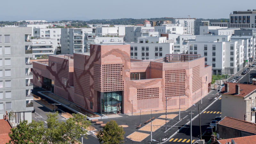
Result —
<instances>
[{"instance_id":1,"label":"low white building directly behind the brick building's tall tower","mask_svg":"<svg viewBox=\"0 0 256 144\"><path fill-rule=\"evenodd\" d=\"M116 44L124 43L124 37L118 36L95 36L93 33L87 33L85 38L85 50L90 52L90 44Z\"/></svg>"}]
</instances>

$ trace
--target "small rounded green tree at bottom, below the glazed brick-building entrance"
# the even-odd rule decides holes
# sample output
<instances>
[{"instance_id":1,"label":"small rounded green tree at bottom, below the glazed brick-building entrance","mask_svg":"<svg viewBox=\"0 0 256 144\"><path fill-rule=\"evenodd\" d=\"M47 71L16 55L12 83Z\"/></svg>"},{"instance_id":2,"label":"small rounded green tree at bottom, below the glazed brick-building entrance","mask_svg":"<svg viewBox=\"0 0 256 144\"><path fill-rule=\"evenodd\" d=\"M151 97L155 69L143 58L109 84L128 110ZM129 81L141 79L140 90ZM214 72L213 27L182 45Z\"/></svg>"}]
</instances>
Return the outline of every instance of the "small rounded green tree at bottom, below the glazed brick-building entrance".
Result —
<instances>
[{"instance_id":1,"label":"small rounded green tree at bottom, below the glazed brick-building entrance","mask_svg":"<svg viewBox=\"0 0 256 144\"><path fill-rule=\"evenodd\" d=\"M115 120L111 120L103 127L103 131L98 132L97 138L100 143L103 141L103 144L119 144L123 143L124 133L123 127L119 127Z\"/></svg>"}]
</instances>

